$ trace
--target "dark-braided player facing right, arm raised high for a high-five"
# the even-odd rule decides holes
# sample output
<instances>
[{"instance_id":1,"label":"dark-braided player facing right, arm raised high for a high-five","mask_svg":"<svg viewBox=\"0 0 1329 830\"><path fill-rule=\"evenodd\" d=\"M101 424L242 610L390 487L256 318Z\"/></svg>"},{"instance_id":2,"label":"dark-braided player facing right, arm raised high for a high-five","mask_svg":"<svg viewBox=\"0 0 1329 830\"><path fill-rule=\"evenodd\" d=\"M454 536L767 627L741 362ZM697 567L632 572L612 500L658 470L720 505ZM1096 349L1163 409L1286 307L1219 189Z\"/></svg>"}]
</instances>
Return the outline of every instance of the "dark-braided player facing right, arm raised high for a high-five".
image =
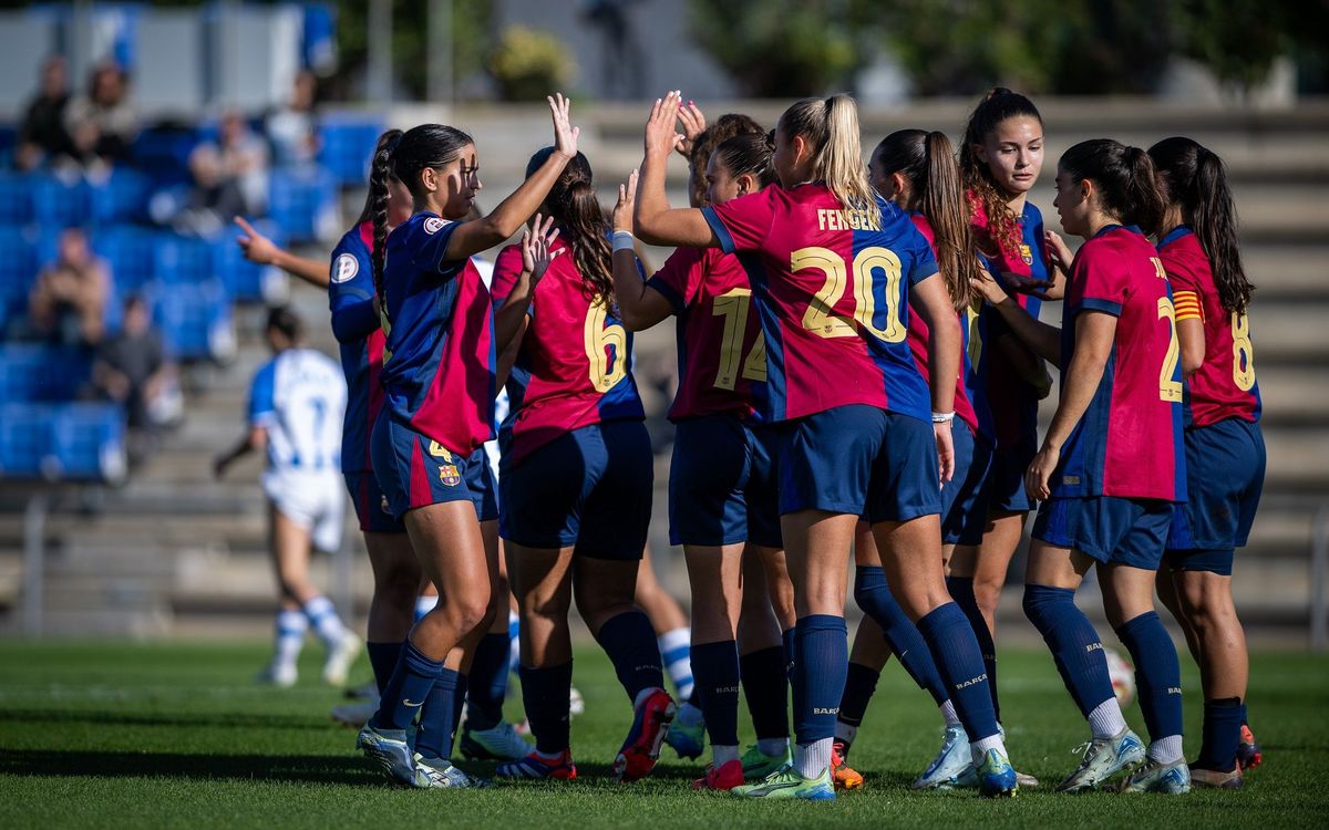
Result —
<instances>
[{"instance_id":1,"label":"dark-braided player facing right, arm raised high for a high-five","mask_svg":"<svg viewBox=\"0 0 1329 830\"><path fill-rule=\"evenodd\" d=\"M387 211L373 211L372 274L385 333L384 406L373 425L373 471L393 517L404 517L439 604L411 629L377 713L359 746L397 781L412 786L466 786L470 780L441 754L412 752L408 730L421 710L428 738L451 736L453 708L444 660L470 648L492 614L498 563L489 559L474 491L488 461L477 453L493 434L496 352L514 336L532 280L548 267L542 227L525 238L526 266L496 315L469 256L512 236L536 212L567 161L578 129L569 102L549 98L556 150L488 216L461 222L480 190L474 142L455 127L421 125L375 158L371 195L384 205L389 171L411 191L416 212L392 235ZM509 308L510 307L510 308ZM444 679L443 689L436 685Z\"/></svg>"}]
</instances>

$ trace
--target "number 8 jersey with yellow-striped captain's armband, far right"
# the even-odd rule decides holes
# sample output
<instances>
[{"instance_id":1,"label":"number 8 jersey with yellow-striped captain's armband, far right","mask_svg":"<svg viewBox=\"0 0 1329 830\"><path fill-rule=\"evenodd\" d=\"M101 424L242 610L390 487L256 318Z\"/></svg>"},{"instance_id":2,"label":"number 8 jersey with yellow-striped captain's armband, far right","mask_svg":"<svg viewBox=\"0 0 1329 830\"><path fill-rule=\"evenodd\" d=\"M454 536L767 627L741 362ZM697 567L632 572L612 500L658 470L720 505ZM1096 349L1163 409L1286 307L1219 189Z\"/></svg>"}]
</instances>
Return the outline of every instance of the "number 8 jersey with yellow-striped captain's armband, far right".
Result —
<instances>
[{"instance_id":1,"label":"number 8 jersey with yellow-striped captain's armband, far right","mask_svg":"<svg viewBox=\"0 0 1329 830\"><path fill-rule=\"evenodd\" d=\"M1251 320L1223 308L1213 270L1199 238L1177 227L1159 242L1159 259L1172 283L1177 320L1204 325L1204 363L1187 378L1187 425L1208 426L1225 418L1260 420L1260 384L1255 380Z\"/></svg>"}]
</instances>

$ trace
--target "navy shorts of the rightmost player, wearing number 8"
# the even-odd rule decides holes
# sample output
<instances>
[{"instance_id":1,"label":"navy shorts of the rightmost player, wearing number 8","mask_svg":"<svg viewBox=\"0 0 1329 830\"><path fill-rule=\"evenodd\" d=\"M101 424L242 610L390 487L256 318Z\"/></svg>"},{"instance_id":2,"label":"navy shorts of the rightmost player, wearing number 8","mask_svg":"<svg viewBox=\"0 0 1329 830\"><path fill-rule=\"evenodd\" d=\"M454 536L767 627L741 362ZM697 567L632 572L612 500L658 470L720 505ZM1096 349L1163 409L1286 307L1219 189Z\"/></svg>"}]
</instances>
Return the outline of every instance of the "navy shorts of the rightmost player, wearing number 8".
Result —
<instances>
[{"instance_id":1,"label":"navy shorts of the rightmost player, wearing number 8","mask_svg":"<svg viewBox=\"0 0 1329 830\"><path fill-rule=\"evenodd\" d=\"M1187 501L1176 505L1167 540L1174 568L1232 574L1232 551L1247 543L1264 489L1260 425L1227 418L1185 430Z\"/></svg>"}]
</instances>

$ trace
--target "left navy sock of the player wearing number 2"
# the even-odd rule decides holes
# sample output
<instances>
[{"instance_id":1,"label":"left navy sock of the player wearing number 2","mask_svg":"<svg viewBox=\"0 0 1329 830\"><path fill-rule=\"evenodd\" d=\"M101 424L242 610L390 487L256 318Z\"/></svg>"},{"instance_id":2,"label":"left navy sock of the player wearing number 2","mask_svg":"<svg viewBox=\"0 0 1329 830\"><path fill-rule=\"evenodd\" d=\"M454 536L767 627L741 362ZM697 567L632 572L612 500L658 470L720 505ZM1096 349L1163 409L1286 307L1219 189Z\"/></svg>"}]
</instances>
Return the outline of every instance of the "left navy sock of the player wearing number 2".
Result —
<instances>
[{"instance_id":1,"label":"left navy sock of the player wearing number 2","mask_svg":"<svg viewBox=\"0 0 1329 830\"><path fill-rule=\"evenodd\" d=\"M1025 616L1051 649L1066 689L1080 714L1114 697L1103 641L1084 612L1075 607L1075 591L1051 586L1025 586Z\"/></svg>"}]
</instances>

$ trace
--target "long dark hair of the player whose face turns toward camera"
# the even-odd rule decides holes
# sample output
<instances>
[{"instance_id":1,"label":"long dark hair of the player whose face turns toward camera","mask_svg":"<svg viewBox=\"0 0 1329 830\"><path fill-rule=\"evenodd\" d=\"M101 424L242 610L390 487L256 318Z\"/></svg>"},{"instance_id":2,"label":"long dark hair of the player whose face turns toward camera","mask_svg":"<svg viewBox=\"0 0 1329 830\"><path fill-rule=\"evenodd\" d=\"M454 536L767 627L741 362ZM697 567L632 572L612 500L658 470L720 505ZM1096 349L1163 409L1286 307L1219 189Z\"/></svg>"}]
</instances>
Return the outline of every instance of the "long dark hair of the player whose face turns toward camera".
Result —
<instances>
[{"instance_id":1,"label":"long dark hair of the player whose face turns toward camera","mask_svg":"<svg viewBox=\"0 0 1329 830\"><path fill-rule=\"evenodd\" d=\"M960 170L965 189L973 201L973 208L982 211L987 218L989 235L999 248L999 251L989 251L991 255L1019 252L1019 216L1011 212L1010 206L1006 205L1010 195L997 187L991 170L974 151L974 145L982 145L987 141L987 137L1007 118L1019 117L1033 118L1038 124L1043 124L1043 117L1038 114L1038 108L1034 106L1033 101L1005 86L995 86L969 114L965 138L960 143Z\"/></svg>"}]
</instances>

